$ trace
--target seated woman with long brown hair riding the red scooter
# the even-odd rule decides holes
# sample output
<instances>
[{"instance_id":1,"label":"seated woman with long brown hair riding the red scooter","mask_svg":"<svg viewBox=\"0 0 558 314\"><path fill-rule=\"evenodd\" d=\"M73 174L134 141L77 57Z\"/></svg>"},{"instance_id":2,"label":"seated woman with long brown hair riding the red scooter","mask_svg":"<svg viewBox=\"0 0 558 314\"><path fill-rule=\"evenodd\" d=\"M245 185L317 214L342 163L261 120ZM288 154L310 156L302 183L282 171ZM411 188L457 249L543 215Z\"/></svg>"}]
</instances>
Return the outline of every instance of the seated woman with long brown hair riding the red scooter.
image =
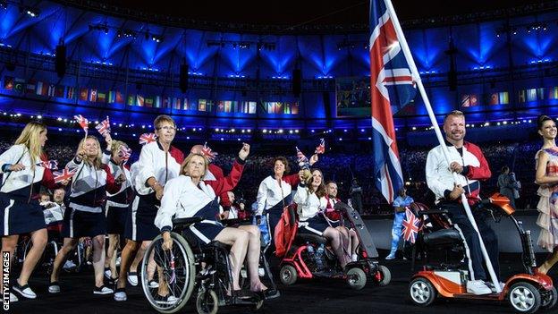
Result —
<instances>
[{"instance_id":1,"label":"seated woman with long brown hair riding the red scooter","mask_svg":"<svg viewBox=\"0 0 558 314\"><path fill-rule=\"evenodd\" d=\"M324 179L319 169L312 169L311 174L307 180L300 174L300 184L293 198L298 205L299 232L325 237L344 268L349 263L345 254L349 248L342 247L342 243L349 243L349 239L345 239L338 229L330 226L323 215L318 215L326 207Z\"/></svg>"}]
</instances>

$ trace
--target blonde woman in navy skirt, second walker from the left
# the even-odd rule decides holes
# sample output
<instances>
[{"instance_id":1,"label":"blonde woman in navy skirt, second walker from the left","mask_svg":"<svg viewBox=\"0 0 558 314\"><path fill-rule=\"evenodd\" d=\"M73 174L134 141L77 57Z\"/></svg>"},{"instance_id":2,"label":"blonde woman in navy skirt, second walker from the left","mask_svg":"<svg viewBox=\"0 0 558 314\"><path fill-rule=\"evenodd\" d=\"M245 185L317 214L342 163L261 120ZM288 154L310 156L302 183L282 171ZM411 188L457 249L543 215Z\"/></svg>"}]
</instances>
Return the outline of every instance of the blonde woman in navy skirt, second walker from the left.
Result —
<instances>
[{"instance_id":1,"label":"blonde woman in navy skirt, second walker from the left","mask_svg":"<svg viewBox=\"0 0 558 314\"><path fill-rule=\"evenodd\" d=\"M115 180L107 165L101 163L101 147L96 137L88 136L80 141L76 157L66 167L76 168L72 178L68 208L63 220L63 247L56 255L50 275L49 293L60 293L60 267L70 251L75 249L81 237L90 237L93 242L93 269L95 271L94 294L109 294L113 290L103 283L105 267L106 217L103 203L106 192L120 191L126 180L120 174Z\"/></svg>"}]
</instances>

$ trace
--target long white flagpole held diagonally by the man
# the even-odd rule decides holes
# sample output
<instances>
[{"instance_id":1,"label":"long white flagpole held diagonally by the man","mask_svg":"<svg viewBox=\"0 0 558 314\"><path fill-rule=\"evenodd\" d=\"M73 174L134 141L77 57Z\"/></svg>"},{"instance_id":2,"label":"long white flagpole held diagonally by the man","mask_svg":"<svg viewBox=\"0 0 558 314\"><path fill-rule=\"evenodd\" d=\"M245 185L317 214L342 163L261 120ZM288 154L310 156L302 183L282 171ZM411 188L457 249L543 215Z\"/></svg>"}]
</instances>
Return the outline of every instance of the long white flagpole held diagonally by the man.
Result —
<instances>
[{"instance_id":1,"label":"long white flagpole held diagonally by the man","mask_svg":"<svg viewBox=\"0 0 558 314\"><path fill-rule=\"evenodd\" d=\"M438 142L442 146L442 151L444 152L445 161L447 162L448 167L449 167L449 165L451 163L450 152L449 152L447 146L445 145L444 137L442 136L442 132L440 131L440 127L438 126L438 123L435 119L434 111L432 110L432 106L430 105L430 100L428 99L428 96L427 96L427 91L424 88L424 85L422 84L422 81L420 80L420 75L418 74L417 64L415 64L415 60L413 59L413 57L410 53L410 48L409 48L409 45L407 44L407 39L405 38L405 35L403 34L401 24L399 23L399 19L397 18L397 15L395 14L395 10L393 9L392 1L391 0L384 0L384 1L385 1L385 6L387 8L387 12L389 13L390 18L393 21L393 27L395 29L395 32L397 33L397 38L399 38L399 43L402 47L403 55L405 55L405 59L407 59L407 63L409 63L410 72L411 72L411 75L413 77L413 81L415 81L417 83L418 91L420 92L420 97L422 98L422 100L425 103L425 106L427 107L428 117L430 118L430 122L432 123L432 126L434 127L434 132L435 132L436 138L438 139ZM452 174L453 174L453 180L457 183L458 182L457 174L456 173L452 173ZM488 268L488 273L490 274L490 279L492 281L492 284L494 284L494 286L495 286L496 293L501 293L502 289L500 288L500 284L498 283L498 279L496 277L494 267L492 266L492 262L490 261L490 258L488 257L488 252L486 251L485 243L482 240L482 236L478 232L478 226L477 226L477 223L475 222L475 218L473 217L473 214L471 213L469 203L467 202L467 197L465 196L465 192L461 193L461 203L463 204L463 208L465 208L465 212L467 213L467 217L469 218L470 224L473 226L473 228L477 232L478 240L480 242L479 243L480 244L480 250L482 250L483 257L485 258L486 268Z\"/></svg>"}]
</instances>

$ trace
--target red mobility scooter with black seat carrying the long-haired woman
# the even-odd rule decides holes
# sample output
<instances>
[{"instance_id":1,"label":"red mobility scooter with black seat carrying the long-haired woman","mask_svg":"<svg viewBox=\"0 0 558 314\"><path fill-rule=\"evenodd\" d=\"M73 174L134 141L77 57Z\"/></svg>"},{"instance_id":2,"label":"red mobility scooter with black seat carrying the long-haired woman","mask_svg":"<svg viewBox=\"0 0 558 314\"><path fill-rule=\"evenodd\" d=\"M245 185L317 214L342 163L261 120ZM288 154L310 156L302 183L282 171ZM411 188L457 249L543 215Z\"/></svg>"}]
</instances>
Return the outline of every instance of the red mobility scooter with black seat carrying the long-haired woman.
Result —
<instances>
[{"instance_id":1,"label":"red mobility scooter with black seat carrying the long-haired woman","mask_svg":"<svg viewBox=\"0 0 558 314\"><path fill-rule=\"evenodd\" d=\"M327 247L324 237L297 233L296 204L292 204L283 209L283 230L278 232L275 229L275 235L279 235L274 239L277 249L275 254L282 258L279 276L281 282L290 285L299 278L339 278L345 280L354 290L364 288L368 278L380 286L389 284L391 272L378 264L376 247L359 213L341 202L335 204L335 210L342 213L345 225L350 225L359 237L359 260L348 263L343 269L334 251ZM282 241L283 243L279 243ZM280 249L282 247L284 250Z\"/></svg>"}]
</instances>

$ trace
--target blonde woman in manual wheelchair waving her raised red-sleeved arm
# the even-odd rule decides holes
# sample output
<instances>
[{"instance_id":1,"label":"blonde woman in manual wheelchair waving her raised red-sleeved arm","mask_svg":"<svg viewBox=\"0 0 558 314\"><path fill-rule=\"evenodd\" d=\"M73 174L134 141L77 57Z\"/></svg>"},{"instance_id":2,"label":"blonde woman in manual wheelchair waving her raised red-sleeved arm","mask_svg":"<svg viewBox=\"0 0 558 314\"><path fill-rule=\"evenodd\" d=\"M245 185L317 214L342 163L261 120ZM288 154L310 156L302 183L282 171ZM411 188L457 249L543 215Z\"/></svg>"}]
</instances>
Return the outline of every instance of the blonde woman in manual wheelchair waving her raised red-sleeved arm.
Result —
<instances>
[{"instance_id":1,"label":"blonde woman in manual wheelchair waving her raised red-sleeved arm","mask_svg":"<svg viewBox=\"0 0 558 314\"><path fill-rule=\"evenodd\" d=\"M241 179L244 160L248 155L249 145L243 144L231 174L217 181L204 182L201 178L207 171L207 158L200 154L190 154L182 163L181 175L165 185L161 208L157 211L155 219L155 225L163 236L163 249L171 250L173 240L170 231L173 229L173 216L203 216L203 221L190 225L184 233L190 233L190 238L193 236L202 244L216 241L232 246L229 254L232 265L232 296L241 295L239 278L244 259L248 261L250 291L263 293L267 289L258 277L259 236L239 228L224 227L218 222L219 204L216 195L231 191L236 186ZM257 229L256 226L254 228Z\"/></svg>"}]
</instances>

